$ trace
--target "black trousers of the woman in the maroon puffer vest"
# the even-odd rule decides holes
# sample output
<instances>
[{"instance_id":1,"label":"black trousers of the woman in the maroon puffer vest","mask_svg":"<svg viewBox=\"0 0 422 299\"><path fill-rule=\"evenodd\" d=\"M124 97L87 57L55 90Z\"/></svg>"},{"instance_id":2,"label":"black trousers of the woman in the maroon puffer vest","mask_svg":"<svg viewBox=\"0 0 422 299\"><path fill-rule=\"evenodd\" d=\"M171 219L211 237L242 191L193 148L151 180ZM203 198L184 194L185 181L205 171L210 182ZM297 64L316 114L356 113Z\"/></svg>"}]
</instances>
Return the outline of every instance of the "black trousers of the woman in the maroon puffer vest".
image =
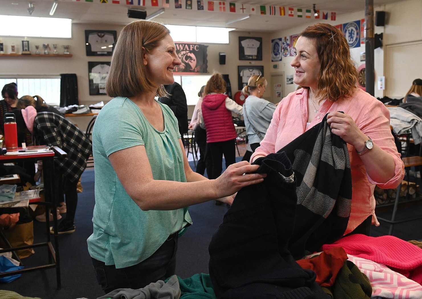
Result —
<instances>
[{"instance_id":1,"label":"black trousers of the woman in the maroon puffer vest","mask_svg":"<svg viewBox=\"0 0 422 299\"><path fill-rule=\"evenodd\" d=\"M212 157L212 177L208 177L209 179L216 179L221 175L223 170L223 155L226 162L226 168L236 163L235 141L236 139L222 142L208 142Z\"/></svg>"}]
</instances>

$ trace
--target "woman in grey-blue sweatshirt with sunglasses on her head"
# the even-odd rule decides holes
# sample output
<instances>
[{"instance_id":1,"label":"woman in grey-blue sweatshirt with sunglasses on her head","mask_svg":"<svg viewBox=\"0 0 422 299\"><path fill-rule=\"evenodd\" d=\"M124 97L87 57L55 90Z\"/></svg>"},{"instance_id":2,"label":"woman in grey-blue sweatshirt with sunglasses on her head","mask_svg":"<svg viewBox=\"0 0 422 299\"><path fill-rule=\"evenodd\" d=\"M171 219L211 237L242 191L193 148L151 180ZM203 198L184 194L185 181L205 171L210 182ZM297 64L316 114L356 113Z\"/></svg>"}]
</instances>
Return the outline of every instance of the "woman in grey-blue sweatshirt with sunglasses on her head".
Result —
<instances>
[{"instance_id":1,"label":"woman in grey-blue sweatshirt with sunglasses on her head","mask_svg":"<svg viewBox=\"0 0 422 299\"><path fill-rule=\"evenodd\" d=\"M262 98L266 88L267 80L261 75L253 75L242 90L243 94L249 95L243 103L243 118L252 152L255 152L264 139L277 108L275 104Z\"/></svg>"}]
</instances>

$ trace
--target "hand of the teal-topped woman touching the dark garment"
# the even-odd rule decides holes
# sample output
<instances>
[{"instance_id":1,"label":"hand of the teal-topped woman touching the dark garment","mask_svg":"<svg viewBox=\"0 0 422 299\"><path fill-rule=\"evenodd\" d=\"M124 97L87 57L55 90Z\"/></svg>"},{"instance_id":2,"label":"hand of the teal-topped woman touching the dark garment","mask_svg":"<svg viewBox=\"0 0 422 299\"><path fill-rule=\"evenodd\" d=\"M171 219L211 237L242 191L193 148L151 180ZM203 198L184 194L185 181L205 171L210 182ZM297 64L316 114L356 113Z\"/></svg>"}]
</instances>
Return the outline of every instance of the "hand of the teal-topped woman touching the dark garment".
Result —
<instances>
[{"instance_id":1,"label":"hand of the teal-topped woman touching the dark garment","mask_svg":"<svg viewBox=\"0 0 422 299\"><path fill-rule=\"evenodd\" d=\"M259 165L251 165L247 161L241 161L230 165L221 176L213 182L214 192L217 198L233 195L243 187L260 183L267 174L250 174L259 168Z\"/></svg>"}]
</instances>

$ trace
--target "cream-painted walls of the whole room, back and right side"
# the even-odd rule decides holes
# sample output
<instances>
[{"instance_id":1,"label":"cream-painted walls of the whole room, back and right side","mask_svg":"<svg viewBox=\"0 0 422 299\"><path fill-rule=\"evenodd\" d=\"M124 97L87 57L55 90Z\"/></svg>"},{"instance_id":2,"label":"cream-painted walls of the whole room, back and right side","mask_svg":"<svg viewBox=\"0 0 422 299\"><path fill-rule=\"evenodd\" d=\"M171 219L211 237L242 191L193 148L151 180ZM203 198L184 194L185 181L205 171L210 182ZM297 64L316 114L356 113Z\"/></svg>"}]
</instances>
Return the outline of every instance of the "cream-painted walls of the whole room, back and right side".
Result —
<instances>
[{"instance_id":1,"label":"cream-painted walls of the whole room, back and right side","mask_svg":"<svg viewBox=\"0 0 422 299\"><path fill-rule=\"evenodd\" d=\"M406 0L399 1L388 5L382 5L375 7L374 11L384 10L387 12L386 25L384 27L375 27L376 33L384 33L384 45L395 44L395 43L406 43L410 41L422 40L422 1L421 0ZM336 21L321 20L329 24L337 25L346 22L356 21L365 17L364 8L362 11L338 15ZM288 18L286 18L288 21ZM300 33L311 23L304 23L302 26L298 26L289 30L278 31L275 33L249 33L249 32L238 32L232 31L229 34L229 44L208 44L208 73L211 74L213 71L220 73L229 74L230 82L232 85L233 95L238 91L238 65L263 65L264 75L267 79L271 78L272 73L283 72L284 75L293 74L293 68L290 66L290 62L293 57L283 57L281 62L271 62L271 39L289 36ZM76 73L78 77L78 89L79 89L79 103L80 104L94 104L100 101L107 102L110 98L106 95L89 95L89 82L88 82L88 61L109 61L110 57L106 56L86 56L85 53L85 30L116 30L117 35L122 29L122 26L110 25L110 24L73 24L72 26L72 38L30 38L30 47L32 53L35 52L35 44L42 45L43 43L59 44L59 51L62 53L63 44L70 45L70 53L73 57L0 57L0 74L26 74L26 75L58 75L60 73ZM238 59L238 37L239 36L251 36L251 37L262 37L262 61L246 61ZM3 37L5 49L9 51L10 44L12 42L18 46L17 52L20 52L21 37ZM226 64L219 65L219 52L226 53ZM365 52L365 46L362 45L359 48L351 49L351 54L357 65L360 65L360 52ZM42 55L42 54L41 54ZM420 53L416 53L420 55ZM384 50L382 48L375 50L375 75L376 77L384 75ZM408 57L411 59L411 57ZM278 64L278 69L273 69L273 64ZM417 69L422 69L422 65L415 65ZM406 70L398 70L405 72ZM403 77L403 86L399 92L395 91L394 94L405 94L410 88L411 82L415 78ZM422 74L421 76L422 77ZM388 78L386 78L388 80ZM388 82L388 81L387 81ZM270 83L270 82L268 82ZM388 89L388 84L387 84ZM284 82L284 95L295 90L295 84L285 84ZM387 91L386 91L387 92ZM387 93L386 93L387 94ZM391 93L392 94L392 93ZM268 92L268 97L270 96ZM41 95L42 96L42 95ZM378 90L375 86L375 96L383 97L384 92ZM193 106L189 106L189 117L192 115ZM74 122L83 122L80 125L81 128L85 128L87 121L84 119L88 117L77 117L72 118ZM79 120L81 119L81 120Z\"/></svg>"}]
</instances>

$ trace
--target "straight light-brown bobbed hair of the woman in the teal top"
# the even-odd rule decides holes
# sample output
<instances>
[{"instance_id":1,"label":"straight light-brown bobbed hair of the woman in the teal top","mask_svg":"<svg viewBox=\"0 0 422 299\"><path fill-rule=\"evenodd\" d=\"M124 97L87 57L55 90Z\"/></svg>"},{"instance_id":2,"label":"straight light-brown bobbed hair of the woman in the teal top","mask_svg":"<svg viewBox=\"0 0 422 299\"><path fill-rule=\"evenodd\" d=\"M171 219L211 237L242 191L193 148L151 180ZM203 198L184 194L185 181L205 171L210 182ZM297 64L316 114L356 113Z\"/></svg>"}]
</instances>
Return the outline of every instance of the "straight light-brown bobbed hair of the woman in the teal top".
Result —
<instances>
[{"instance_id":1,"label":"straight light-brown bobbed hair of the woman in the teal top","mask_svg":"<svg viewBox=\"0 0 422 299\"><path fill-rule=\"evenodd\" d=\"M146 20L132 22L122 29L114 47L106 81L109 97L131 97L157 88L148 78L143 64L144 51L153 52L168 34L170 30L163 24ZM157 96L167 95L164 86L160 85Z\"/></svg>"}]
</instances>

